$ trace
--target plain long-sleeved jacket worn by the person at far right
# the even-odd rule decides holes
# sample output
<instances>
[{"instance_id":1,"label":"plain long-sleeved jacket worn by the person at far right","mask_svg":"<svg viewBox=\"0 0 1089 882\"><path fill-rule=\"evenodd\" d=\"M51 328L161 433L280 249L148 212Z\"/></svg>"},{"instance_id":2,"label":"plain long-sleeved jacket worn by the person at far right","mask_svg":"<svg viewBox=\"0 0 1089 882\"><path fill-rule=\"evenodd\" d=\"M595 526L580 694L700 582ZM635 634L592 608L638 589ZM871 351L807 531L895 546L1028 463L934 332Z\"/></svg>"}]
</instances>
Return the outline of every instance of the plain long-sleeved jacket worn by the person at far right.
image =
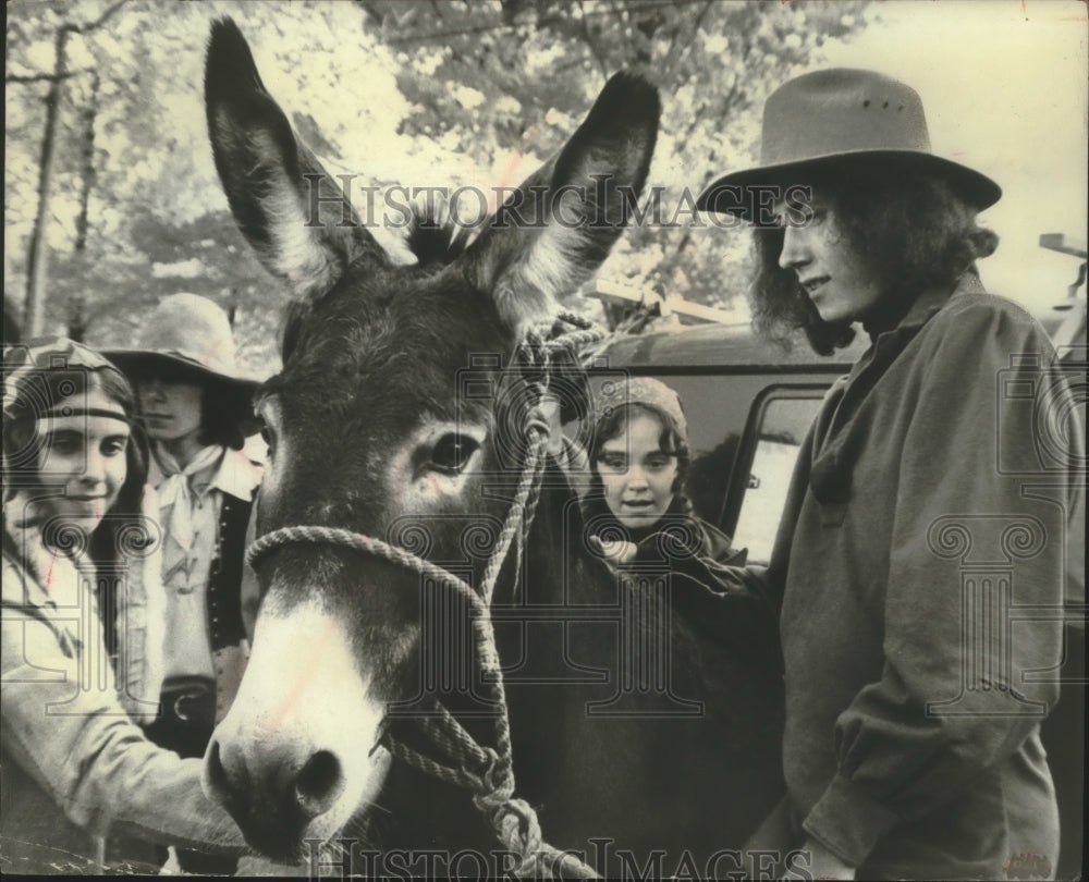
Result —
<instances>
[{"instance_id":1,"label":"plain long-sleeved jacket worn by the person at far right","mask_svg":"<svg viewBox=\"0 0 1089 882\"><path fill-rule=\"evenodd\" d=\"M974 274L923 294L829 392L769 567L733 573L781 604L779 846L815 838L859 879L1055 866L1039 731L1084 541L1069 404L1047 334Z\"/></svg>"}]
</instances>

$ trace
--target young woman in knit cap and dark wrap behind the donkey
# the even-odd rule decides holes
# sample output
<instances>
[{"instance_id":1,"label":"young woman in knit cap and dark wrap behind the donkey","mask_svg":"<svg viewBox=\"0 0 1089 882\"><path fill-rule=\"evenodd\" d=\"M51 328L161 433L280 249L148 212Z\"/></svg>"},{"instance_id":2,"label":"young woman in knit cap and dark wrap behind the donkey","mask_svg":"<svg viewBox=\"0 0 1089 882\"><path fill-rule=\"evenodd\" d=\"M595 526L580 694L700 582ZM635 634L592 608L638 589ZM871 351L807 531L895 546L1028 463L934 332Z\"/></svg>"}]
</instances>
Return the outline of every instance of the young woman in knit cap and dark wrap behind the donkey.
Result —
<instances>
[{"instance_id":1,"label":"young woman in knit cap and dark wrap behind the donkey","mask_svg":"<svg viewBox=\"0 0 1089 882\"><path fill-rule=\"evenodd\" d=\"M762 596L723 578L745 563L746 552L693 511L688 426L676 392L650 377L608 380L595 391L582 504L586 541L622 584L664 585L670 610L723 650L729 666L718 669L717 682L729 723L721 727L719 762L733 770L738 792L722 794L719 821L724 835L737 836L783 793L775 615Z\"/></svg>"}]
</instances>

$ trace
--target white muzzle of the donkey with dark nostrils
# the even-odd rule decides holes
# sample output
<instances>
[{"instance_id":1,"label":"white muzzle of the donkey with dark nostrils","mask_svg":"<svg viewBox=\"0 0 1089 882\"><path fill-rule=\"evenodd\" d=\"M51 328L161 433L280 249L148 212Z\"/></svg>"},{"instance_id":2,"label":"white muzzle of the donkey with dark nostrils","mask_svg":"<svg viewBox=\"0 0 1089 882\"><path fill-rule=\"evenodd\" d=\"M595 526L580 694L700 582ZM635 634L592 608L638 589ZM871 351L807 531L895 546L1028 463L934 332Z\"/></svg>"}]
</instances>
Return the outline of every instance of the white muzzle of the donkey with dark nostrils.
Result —
<instances>
[{"instance_id":1,"label":"white muzzle of the donkey with dark nostrils","mask_svg":"<svg viewBox=\"0 0 1089 882\"><path fill-rule=\"evenodd\" d=\"M328 611L313 602L262 611L246 676L204 771L206 793L250 841L325 838L374 798L369 751L383 708L368 686L343 624Z\"/></svg>"}]
</instances>

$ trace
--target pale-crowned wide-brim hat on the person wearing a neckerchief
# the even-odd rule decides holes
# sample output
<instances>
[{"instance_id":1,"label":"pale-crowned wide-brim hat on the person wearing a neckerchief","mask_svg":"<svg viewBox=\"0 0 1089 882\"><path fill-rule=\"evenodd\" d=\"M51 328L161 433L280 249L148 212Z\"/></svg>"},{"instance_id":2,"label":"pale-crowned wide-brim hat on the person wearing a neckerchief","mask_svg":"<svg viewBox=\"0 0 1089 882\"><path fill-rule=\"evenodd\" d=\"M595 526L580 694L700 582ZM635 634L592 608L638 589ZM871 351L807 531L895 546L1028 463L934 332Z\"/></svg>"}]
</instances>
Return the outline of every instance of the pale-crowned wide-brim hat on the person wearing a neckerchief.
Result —
<instances>
[{"instance_id":1,"label":"pale-crowned wide-brim hat on the person wearing a neckerchief","mask_svg":"<svg viewBox=\"0 0 1089 882\"><path fill-rule=\"evenodd\" d=\"M253 395L260 384L238 368L227 313L198 294L163 297L144 323L136 346L102 353L130 377L166 367L245 395Z\"/></svg>"}]
</instances>

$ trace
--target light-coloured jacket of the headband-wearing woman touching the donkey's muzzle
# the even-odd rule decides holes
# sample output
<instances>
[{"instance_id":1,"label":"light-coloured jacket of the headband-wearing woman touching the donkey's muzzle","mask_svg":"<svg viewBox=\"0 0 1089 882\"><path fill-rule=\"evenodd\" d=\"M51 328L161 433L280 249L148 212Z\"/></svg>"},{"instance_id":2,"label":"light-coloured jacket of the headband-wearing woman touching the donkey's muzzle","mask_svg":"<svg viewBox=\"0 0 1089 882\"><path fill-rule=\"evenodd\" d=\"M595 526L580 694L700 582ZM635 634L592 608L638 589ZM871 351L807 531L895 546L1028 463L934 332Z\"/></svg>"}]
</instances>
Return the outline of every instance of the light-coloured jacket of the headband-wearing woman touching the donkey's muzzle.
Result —
<instances>
[{"instance_id":1,"label":"light-coloured jacket of the headband-wearing woman touching the donkey's muzzle","mask_svg":"<svg viewBox=\"0 0 1089 882\"><path fill-rule=\"evenodd\" d=\"M120 683L93 579L78 554L12 526L5 505L0 611L0 855L5 871L96 872L114 833L242 854L234 822L200 788L200 761L150 744L133 722L154 714L159 681L147 626L158 559L135 547L118 571ZM151 509L154 511L154 509ZM160 589L161 590L161 589Z\"/></svg>"}]
</instances>

